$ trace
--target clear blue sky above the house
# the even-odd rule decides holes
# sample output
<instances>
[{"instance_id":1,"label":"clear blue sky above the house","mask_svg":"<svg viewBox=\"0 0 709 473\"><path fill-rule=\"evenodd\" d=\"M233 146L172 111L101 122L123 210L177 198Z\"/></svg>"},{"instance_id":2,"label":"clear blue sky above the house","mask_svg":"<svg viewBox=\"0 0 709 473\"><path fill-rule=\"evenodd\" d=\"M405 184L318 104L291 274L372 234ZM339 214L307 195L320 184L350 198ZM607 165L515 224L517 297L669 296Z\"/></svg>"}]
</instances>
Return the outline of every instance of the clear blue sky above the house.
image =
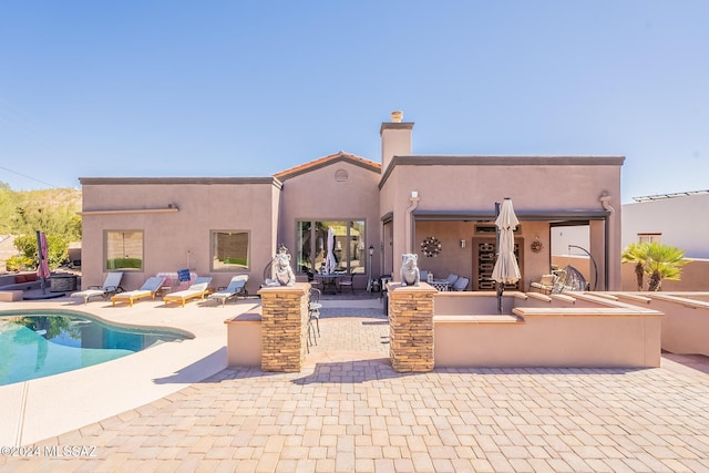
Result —
<instances>
[{"instance_id":1,"label":"clear blue sky above the house","mask_svg":"<svg viewBox=\"0 0 709 473\"><path fill-rule=\"evenodd\" d=\"M0 2L0 182L266 176L338 151L624 155L709 188L709 2Z\"/></svg>"}]
</instances>

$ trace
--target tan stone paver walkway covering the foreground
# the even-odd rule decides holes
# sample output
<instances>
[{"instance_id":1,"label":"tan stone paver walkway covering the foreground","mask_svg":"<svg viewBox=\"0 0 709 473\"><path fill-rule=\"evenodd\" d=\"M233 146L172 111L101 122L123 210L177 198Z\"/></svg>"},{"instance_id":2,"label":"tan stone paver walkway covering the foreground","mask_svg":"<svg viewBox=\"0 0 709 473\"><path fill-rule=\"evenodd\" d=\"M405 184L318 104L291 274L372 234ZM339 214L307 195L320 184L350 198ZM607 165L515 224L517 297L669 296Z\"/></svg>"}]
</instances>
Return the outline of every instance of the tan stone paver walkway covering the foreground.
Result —
<instances>
[{"instance_id":1,"label":"tan stone paver walkway covering the foreground","mask_svg":"<svg viewBox=\"0 0 709 473\"><path fill-rule=\"evenodd\" d=\"M37 457L1 457L0 471L709 472L703 357L677 370L681 357L399 374L386 318L352 315L323 311L300 373L227 369L48 439Z\"/></svg>"}]
</instances>

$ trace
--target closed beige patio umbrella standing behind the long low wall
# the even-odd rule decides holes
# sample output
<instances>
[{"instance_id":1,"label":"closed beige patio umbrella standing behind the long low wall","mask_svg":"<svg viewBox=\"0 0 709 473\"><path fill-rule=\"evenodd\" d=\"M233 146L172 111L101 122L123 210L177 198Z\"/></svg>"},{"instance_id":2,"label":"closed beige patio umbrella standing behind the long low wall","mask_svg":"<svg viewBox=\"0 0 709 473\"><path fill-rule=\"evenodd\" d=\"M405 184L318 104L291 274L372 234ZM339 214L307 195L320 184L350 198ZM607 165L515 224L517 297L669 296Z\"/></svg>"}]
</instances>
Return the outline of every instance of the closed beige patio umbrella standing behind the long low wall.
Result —
<instances>
[{"instance_id":1,"label":"closed beige patio umbrella standing behind the long low wall","mask_svg":"<svg viewBox=\"0 0 709 473\"><path fill-rule=\"evenodd\" d=\"M505 197L502 203L495 203L495 225L497 226L497 260L492 270L492 278L497 282L497 312L502 313L502 292L506 284L520 280L520 267L514 256L514 229L520 225L512 207L512 199Z\"/></svg>"}]
</instances>

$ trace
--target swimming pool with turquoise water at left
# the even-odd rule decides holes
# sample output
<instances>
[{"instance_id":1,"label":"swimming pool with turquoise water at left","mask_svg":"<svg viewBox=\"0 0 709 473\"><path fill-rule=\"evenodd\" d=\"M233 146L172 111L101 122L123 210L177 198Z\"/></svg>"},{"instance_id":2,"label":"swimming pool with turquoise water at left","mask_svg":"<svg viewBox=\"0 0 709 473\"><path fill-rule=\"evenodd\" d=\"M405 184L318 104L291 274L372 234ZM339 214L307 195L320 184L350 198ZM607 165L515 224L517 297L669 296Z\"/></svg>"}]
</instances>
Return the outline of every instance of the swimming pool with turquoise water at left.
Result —
<instances>
[{"instance_id":1,"label":"swimming pool with turquoise water at left","mask_svg":"<svg viewBox=\"0 0 709 473\"><path fill-rule=\"evenodd\" d=\"M188 338L175 330L122 327L73 311L0 311L0 385L78 370Z\"/></svg>"}]
</instances>

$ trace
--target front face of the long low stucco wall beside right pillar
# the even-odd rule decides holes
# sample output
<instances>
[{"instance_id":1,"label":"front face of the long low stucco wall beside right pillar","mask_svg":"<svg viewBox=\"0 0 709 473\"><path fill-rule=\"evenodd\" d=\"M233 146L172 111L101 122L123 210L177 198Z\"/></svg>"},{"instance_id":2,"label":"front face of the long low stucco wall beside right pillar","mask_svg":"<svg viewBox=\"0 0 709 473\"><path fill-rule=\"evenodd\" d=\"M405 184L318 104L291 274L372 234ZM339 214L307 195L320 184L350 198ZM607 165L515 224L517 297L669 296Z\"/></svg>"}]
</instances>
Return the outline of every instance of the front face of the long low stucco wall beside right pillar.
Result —
<instances>
[{"instance_id":1,"label":"front face of the long low stucco wall beside right pillar","mask_svg":"<svg viewBox=\"0 0 709 473\"><path fill-rule=\"evenodd\" d=\"M434 318L435 366L659 367L660 317L557 312L520 323Z\"/></svg>"}]
</instances>

